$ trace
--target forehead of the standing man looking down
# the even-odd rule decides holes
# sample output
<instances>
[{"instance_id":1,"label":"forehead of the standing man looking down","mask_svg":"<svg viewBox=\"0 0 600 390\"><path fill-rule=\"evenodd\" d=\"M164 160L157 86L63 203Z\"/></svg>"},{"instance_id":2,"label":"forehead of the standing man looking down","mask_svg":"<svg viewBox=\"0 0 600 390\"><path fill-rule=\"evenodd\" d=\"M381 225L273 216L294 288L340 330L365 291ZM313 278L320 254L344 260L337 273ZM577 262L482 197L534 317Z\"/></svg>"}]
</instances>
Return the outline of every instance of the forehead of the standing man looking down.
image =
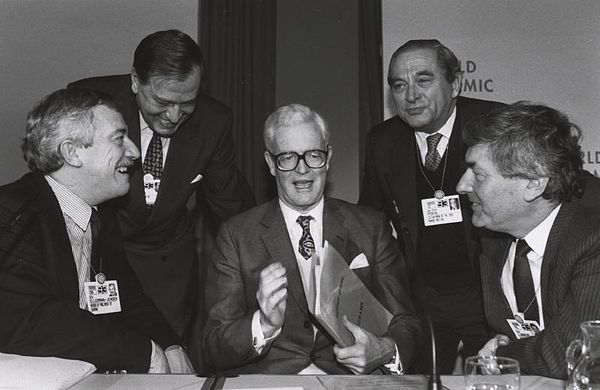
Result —
<instances>
[{"instance_id":1,"label":"forehead of the standing man looking down","mask_svg":"<svg viewBox=\"0 0 600 390\"><path fill-rule=\"evenodd\" d=\"M200 71L194 69L186 79L171 76L152 76L144 87L152 97L171 102L193 100L200 89Z\"/></svg>"}]
</instances>

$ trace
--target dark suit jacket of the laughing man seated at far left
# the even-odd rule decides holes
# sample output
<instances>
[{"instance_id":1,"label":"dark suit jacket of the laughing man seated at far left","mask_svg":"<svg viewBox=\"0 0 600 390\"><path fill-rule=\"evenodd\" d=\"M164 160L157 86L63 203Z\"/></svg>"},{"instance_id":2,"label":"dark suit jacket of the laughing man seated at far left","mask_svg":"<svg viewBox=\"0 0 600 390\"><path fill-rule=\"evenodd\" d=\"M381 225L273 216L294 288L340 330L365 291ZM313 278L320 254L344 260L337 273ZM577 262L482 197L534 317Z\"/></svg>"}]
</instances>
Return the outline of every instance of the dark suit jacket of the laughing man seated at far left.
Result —
<instances>
[{"instance_id":1,"label":"dark suit jacket of the laughing man seated at far left","mask_svg":"<svg viewBox=\"0 0 600 390\"><path fill-rule=\"evenodd\" d=\"M63 214L44 177L29 173L0 187L0 351L143 373L150 339L163 348L179 342L127 264L116 217L102 208L99 216L102 272L119 283L121 313L79 308Z\"/></svg>"}]
</instances>

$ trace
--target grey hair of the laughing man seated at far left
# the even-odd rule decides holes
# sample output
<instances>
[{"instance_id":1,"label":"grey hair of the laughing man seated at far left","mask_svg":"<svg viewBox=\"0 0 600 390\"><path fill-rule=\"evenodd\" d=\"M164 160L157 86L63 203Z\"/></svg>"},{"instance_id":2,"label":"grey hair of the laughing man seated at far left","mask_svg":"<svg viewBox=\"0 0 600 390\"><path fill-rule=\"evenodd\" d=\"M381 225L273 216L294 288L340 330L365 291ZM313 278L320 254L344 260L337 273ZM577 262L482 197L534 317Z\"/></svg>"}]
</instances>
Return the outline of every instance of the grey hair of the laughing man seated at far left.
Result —
<instances>
[{"instance_id":1,"label":"grey hair of the laughing man seated at far left","mask_svg":"<svg viewBox=\"0 0 600 390\"><path fill-rule=\"evenodd\" d=\"M71 140L77 147L91 146L91 109L100 105L118 110L110 96L87 89L60 89L37 103L27 115L21 146L29 169L48 174L62 167L59 148L63 141Z\"/></svg>"}]
</instances>

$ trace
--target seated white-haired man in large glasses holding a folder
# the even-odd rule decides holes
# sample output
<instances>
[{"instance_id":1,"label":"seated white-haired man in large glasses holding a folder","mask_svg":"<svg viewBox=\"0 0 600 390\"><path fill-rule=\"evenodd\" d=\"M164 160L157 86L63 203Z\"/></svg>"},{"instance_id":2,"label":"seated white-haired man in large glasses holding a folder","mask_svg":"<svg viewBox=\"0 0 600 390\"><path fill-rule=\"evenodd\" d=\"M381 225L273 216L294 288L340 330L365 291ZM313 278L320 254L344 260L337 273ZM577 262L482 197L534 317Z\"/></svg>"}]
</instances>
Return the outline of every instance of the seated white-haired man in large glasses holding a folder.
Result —
<instances>
[{"instance_id":1,"label":"seated white-haired man in large glasses holding a folder","mask_svg":"<svg viewBox=\"0 0 600 390\"><path fill-rule=\"evenodd\" d=\"M419 320L399 275L405 263L379 213L323 196L333 148L322 117L283 106L265 123L265 160L278 198L225 223L208 270L207 361L232 373L370 373L411 362ZM323 243L354 270L393 314L385 334L344 325L355 344L342 348L310 314L313 267ZM362 258L361 256L359 256Z\"/></svg>"}]
</instances>

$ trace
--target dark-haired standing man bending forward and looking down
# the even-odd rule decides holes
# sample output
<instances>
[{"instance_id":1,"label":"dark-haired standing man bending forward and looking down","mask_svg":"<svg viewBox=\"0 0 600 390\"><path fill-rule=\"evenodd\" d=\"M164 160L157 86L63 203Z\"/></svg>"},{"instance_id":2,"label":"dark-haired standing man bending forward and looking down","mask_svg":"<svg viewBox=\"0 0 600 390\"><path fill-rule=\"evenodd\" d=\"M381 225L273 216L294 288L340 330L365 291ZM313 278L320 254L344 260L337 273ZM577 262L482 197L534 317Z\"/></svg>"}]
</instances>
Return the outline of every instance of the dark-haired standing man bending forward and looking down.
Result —
<instances>
[{"instance_id":1,"label":"dark-haired standing man bending forward and looking down","mask_svg":"<svg viewBox=\"0 0 600 390\"><path fill-rule=\"evenodd\" d=\"M141 150L131 189L115 202L125 250L144 291L186 340L202 279L190 197L220 219L254 205L234 165L231 112L200 92L204 74L198 45L168 30L140 42L131 74L69 85L113 96Z\"/></svg>"}]
</instances>

